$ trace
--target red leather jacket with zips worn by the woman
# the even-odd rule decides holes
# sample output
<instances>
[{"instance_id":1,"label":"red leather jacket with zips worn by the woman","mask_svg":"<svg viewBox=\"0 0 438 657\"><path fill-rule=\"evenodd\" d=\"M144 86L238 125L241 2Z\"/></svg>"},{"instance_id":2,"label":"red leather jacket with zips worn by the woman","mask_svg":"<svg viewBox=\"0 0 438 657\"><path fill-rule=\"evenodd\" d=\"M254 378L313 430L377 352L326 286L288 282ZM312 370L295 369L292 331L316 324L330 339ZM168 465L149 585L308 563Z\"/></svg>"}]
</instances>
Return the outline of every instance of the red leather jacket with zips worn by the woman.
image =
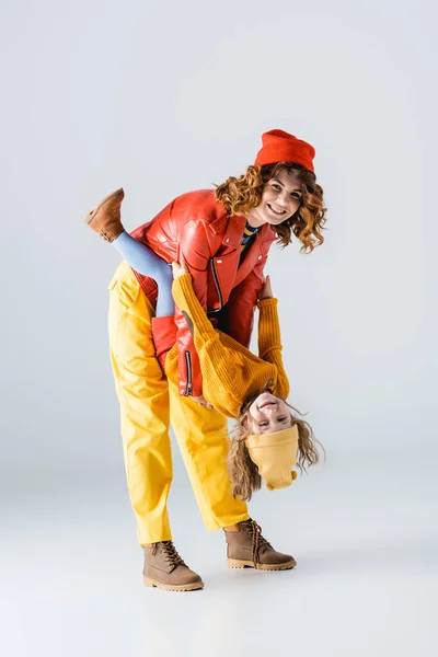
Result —
<instances>
[{"instance_id":1,"label":"red leather jacket with zips worn by the woman","mask_svg":"<svg viewBox=\"0 0 438 657\"><path fill-rule=\"evenodd\" d=\"M217 328L249 346L263 268L276 233L263 226L241 260L245 218L228 217L215 192L201 189L183 194L152 221L130 234L168 263L188 266L197 298ZM134 270L143 292L155 304L153 279ZM176 309L180 394L203 394L199 360L188 326Z\"/></svg>"}]
</instances>

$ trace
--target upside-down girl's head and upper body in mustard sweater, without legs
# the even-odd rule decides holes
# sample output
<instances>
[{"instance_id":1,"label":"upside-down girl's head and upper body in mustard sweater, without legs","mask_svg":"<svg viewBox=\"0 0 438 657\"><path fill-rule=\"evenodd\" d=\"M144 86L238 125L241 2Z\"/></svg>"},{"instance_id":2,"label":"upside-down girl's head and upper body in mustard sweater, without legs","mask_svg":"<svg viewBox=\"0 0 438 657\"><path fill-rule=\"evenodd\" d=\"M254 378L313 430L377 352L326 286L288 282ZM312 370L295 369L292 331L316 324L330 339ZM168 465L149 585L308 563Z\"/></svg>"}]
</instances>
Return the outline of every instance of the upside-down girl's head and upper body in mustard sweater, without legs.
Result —
<instances>
[{"instance_id":1,"label":"upside-down girl's head and upper body in mustard sweater, without legs","mask_svg":"<svg viewBox=\"0 0 438 657\"><path fill-rule=\"evenodd\" d=\"M194 295L187 268L174 263L173 274L173 297L195 338L206 399L223 415L238 419L228 457L233 495L250 500L262 476L270 491L289 486L296 479L291 469L297 451L300 470L318 463L319 454L311 427L292 415L286 403L289 382L269 277L258 295L257 358L212 327ZM172 357L174 349L168 355L168 376L173 373Z\"/></svg>"}]
</instances>

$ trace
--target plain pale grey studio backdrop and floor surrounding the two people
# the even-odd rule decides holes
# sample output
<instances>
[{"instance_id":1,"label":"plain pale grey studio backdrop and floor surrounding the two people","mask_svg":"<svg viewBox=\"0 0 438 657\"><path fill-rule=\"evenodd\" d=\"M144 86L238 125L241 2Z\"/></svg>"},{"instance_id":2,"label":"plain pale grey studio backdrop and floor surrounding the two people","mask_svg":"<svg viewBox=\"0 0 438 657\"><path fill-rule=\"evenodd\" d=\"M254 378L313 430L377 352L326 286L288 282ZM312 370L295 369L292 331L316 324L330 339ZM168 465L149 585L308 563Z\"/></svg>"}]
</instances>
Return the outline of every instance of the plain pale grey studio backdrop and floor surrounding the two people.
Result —
<instances>
[{"instance_id":1,"label":"plain pale grey studio backdrop and floor surrounding the two people","mask_svg":"<svg viewBox=\"0 0 438 657\"><path fill-rule=\"evenodd\" d=\"M5 654L436 654L436 13L2 0ZM322 247L267 267L327 463L251 506L299 566L227 570L174 449L174 540L206 589L146 589L107 357L118 256L82 218L123 185L134 229L272 128L316 147L330 209Z\"/></svg>"}]
</instances>

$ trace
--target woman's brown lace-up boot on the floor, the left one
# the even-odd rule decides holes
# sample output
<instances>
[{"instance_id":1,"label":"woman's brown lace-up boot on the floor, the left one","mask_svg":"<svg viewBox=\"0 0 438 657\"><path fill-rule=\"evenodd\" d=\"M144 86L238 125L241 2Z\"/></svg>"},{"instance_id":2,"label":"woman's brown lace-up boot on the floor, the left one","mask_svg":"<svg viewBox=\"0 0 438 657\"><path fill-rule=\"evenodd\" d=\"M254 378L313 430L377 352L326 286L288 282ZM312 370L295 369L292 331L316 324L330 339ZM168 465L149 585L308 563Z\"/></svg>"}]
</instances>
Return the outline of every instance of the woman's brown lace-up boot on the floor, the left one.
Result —
<instances>
[{"instance_id":1,"label":"woman's brown lace-up boot on the floor, the left one","mask_svg":"<svg viewBox=\"0 0 438 657\"><path fill-rule=\"evenodd\" d=\"M153 543L145 548L143 579L146 586L157 586L165 591L193 591L204 588L199 575L191 570L172 541Z\"/></svg>"}]
</instances>

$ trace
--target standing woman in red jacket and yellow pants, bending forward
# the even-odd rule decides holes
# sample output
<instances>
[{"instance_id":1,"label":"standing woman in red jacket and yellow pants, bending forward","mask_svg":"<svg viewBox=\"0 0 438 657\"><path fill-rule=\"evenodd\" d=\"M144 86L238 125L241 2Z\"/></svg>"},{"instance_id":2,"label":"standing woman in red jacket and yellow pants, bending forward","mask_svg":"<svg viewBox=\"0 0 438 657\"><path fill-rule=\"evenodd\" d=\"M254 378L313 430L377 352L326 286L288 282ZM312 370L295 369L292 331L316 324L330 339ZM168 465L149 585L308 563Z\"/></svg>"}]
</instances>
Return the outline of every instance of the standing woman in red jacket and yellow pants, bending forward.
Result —
<instances>
[{"instance_id":1,"label":"standing woman in red jacket and yellow pants, bending forward","mask_svg":"<svg viewBox=\"0 0 438 657\"><path fill-rule=\"evenodd\" d=\"M243 346L250 342L273 241L278 239L287 245L293 233L306 251L323 242L325 208L313 173L313 157L314 149L292 135L266 132L255 164L243 176L228 178L216 192L180 196L131 233L168 263L187 264L201 308L215 326ZM117 242L123 234L123 191L116 192L87 218L106 241ZM175 312L175 384L163 376L155 351L148 346L152 344L148 318L154 312L155 281L125 262L110 289L111 356L120 402L129 495L139 542L145 548L146 580L170 590L203 586L172 543L166 510L172 481L170 422L206 527L224 529L229 557L233 551L237 561L251 560L253 539L257 537L260 567L292 567L293 557L276 552L260 535L244 502L232 495L226 465L226 419L208 408L203 397L198 357L181 311ZM169 314L165 308L158 310ZM165 335L160 337L168 343ZM155 345L160 353L160 339L155 338Z\"/></svg>"}]
</instances>

